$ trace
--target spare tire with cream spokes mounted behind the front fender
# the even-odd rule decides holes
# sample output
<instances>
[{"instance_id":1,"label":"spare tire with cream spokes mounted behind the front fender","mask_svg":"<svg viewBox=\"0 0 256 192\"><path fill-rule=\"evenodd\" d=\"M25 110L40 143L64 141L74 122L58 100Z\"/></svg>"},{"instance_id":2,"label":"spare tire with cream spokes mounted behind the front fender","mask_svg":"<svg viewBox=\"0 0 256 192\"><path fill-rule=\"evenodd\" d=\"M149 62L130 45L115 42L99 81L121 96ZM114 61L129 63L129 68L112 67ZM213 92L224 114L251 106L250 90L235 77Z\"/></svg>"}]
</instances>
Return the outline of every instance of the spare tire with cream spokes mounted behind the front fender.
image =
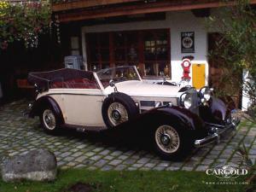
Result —
<instances>
[{"instance_id":1,"label":"spare tire with cream spokes mounted behind the front fender","mask_svg":"<svg viewBox=\"0 0 256 192\"><path fill-rule=\"evenodd\" d=\"M139 113L136 103L125 93L112 93L102 104L102 118L108 128L113 128Z\"/></svg>"}]
</instances>

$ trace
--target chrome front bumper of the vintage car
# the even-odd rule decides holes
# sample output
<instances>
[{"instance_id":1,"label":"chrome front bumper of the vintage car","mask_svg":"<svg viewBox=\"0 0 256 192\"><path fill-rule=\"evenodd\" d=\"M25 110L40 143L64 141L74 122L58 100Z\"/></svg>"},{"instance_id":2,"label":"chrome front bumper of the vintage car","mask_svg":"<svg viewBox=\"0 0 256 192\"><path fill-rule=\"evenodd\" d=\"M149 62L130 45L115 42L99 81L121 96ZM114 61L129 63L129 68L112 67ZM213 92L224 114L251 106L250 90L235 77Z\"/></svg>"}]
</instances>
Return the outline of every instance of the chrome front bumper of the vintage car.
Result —
<instances>
[{"instance_id":1,"label":"chrome front bumper of the vintage car","mask_svg":"<svg viewBox=\"0 0 256 192\"><path fill-rule=\"evenodd\" d=\"M236 126L239 125L239 123L240 121L236 120L224 127L211 125L211 128L214 129L214 133L202 139L195 140L195 148L201 148L211 143L219 143L220 137L228 134L228 132L236 130Z\"/></svg>"}]
</instances>

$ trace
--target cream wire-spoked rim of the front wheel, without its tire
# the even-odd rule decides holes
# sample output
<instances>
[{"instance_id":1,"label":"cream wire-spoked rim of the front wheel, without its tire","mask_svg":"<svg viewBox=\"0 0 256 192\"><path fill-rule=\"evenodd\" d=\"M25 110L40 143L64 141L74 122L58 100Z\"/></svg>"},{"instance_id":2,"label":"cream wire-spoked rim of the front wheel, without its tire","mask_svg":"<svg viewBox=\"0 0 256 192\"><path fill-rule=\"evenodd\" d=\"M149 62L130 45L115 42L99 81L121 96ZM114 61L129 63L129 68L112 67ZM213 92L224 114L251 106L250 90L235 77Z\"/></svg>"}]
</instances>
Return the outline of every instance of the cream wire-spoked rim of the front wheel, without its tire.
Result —
<instances>
[{"instance_id":1,"label":"cream wire-spoked rim of the front wheel, without its tire","mask_svg":"<svg viewBox=\"0 0 256 192\"><path fill-rule=\"evenodd\" d=\"M160 125L155 131L155 142L162 151L172 154L179 148L180 138L171 125Z\"/></svg>"}]
</instances>

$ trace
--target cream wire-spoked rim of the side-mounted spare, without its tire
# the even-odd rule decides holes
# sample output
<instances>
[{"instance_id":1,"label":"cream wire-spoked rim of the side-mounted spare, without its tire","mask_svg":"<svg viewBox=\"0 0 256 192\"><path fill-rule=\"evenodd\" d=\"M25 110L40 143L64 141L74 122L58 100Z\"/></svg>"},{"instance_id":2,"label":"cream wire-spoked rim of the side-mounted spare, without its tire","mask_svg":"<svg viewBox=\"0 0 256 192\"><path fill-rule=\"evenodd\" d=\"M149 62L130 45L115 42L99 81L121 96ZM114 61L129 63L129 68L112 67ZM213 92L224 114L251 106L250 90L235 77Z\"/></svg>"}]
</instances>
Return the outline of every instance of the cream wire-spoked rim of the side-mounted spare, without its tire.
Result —
<instances>
[{"instance_id":1,"label":"cream wire-spoked rim of the side-mounted spare, without its tire","mask_svg":"<svg viewBox=\"0 0 256 192\"><path fill-rule=\"evenodd\" d=\"M121 103L113 102L108 107L108 119L115 126L128 120L128 113Z\"/></svg>"}]
</instances>

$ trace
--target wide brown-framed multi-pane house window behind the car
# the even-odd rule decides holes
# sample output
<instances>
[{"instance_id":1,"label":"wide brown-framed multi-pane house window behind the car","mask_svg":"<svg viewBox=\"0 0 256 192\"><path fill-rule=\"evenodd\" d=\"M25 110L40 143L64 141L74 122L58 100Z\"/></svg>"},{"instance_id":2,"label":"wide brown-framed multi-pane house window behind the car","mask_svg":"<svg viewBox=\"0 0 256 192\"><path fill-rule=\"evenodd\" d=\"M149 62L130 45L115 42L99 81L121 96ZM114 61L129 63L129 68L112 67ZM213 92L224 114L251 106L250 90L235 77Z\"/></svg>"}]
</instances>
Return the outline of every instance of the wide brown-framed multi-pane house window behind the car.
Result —
<instances>
[{"instance_id":1,"label":"wide brown-framed multi-pane house window behind the car","mask_svg":"<svg viewBox=\"0 0 256 192\"><path fill-rule=\"evenodd\" d=\"M145 77L170 76L170 31L155 29L86 34L89 70L135 65Z\"/></svg>"}]
</instances>

